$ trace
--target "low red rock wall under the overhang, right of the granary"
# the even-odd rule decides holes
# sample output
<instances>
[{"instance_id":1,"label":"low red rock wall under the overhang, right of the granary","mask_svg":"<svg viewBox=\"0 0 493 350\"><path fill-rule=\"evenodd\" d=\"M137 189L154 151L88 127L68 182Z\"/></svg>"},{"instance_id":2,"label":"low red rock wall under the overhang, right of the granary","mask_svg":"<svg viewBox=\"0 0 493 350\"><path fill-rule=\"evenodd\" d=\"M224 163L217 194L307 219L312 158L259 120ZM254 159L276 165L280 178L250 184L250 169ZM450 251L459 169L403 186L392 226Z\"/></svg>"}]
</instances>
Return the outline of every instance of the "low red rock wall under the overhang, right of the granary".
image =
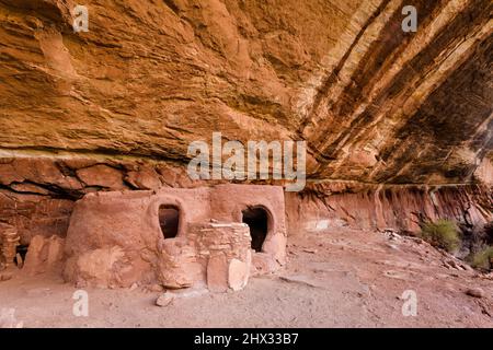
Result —
<instances>
[{"instance_id":1,"label":"low red rock wall under the overhang, right of the granary","mask_svg":"<svg viewBox=\"0 0 493 350\"><path fill-rule=\"evenodd\" d=\"M484 186L318 184L286 195L289 232L355 229L420 231L423 221L448 218L468 226L493 220L493 196Z\"/></svg>"}]
</instances>

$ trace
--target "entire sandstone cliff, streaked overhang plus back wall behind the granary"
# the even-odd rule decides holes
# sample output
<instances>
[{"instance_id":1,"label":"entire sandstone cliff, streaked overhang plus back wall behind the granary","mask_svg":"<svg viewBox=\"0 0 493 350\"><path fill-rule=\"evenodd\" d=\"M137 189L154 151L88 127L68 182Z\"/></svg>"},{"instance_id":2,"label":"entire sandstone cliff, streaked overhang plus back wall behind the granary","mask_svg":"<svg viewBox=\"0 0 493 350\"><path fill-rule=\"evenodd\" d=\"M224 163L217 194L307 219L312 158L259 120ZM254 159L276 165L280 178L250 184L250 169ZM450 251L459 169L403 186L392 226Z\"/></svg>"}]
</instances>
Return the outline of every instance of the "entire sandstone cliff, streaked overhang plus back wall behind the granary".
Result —
<instances>
[{"instance_id":1,"label":"entire sandstone cliff, streaked overhang plus back wall behind the granary","mask_svg":"<svg viewBox=\"0 0 493 350\"><path fill-rule=\"evenodd\" d=\"M89 192L220 183L184 172L213 131L303 139L310 180L341 180L287 197L291 233L491 220L491 1L406 1L415 34L393 0L90 0L77 34L74 4L0 0L0 222L23 244Z\"/></svg>"}]
</instances>

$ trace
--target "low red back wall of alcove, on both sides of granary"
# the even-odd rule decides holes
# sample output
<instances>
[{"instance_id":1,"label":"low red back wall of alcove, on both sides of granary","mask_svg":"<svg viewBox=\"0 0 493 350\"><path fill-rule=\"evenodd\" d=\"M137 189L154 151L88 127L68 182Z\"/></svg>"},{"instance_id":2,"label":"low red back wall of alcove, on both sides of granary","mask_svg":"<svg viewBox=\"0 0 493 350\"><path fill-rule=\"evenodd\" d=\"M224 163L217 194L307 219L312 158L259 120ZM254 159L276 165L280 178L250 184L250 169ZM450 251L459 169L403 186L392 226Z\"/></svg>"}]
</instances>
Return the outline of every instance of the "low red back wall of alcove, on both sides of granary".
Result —
<instances>
[{"instance_id":1,"label":"low red back wall of alcove, on both sides of granary","mask_svg":"<svg viewBox=\"0 0 493 350\"><path fill-rule=\"evenodd\" d=\"M183 166L102 159L18 158L0 163L0 220L18 229L23 244L35 235L66 236L78 199L98 191L197 188L222 180L191 180ZM264 184L268 184L264 182ZM271 183L275 184L275 183ZM450 218L466 225L492 220L492 187L308 182L286 194L288 232L349 225L416 231L426 219Z\"/></svg>"}]
</instances>

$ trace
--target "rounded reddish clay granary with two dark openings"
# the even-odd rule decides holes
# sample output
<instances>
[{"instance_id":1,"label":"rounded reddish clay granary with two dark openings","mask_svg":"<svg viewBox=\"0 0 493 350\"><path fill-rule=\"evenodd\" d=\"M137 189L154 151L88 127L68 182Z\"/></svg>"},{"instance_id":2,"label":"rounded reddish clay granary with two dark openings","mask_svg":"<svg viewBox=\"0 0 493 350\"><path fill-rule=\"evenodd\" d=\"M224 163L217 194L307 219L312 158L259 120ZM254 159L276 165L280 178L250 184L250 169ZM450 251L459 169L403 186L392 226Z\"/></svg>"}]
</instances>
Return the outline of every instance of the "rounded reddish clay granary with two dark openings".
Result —
<instances>
[{"instance_id":1,"label":"rounded reddish clay granary with two dark openings","mask_svg":"<svg viewBox=\"0 0 493 350\"><path fill-rule=\"evenodd\" d=\"M239 290L285 264L286 235L277 186L88 194L70 219L62 273L100 288Z\"/></svg>"}]
</instances>

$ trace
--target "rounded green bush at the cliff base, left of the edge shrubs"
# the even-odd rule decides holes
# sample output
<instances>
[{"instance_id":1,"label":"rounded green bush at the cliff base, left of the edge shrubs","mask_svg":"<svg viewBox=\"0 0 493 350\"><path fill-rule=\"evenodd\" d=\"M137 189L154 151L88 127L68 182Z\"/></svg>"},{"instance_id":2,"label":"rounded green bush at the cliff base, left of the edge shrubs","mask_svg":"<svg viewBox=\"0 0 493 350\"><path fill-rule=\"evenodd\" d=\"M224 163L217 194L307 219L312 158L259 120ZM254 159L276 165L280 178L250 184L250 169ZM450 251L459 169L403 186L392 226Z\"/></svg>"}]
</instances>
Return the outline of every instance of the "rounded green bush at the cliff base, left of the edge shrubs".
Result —
<instances>
[{"instance_id":1,"label":"rounded green bush at the cliff base, left of the edge shrubs","mask_svg":"<svg viewBox=\"0 0 493 350\"><path fill-rule=\"evenodd\" d=\"M440 219L422 224L421 236L433 246L447 252L454 252L460 245L459 230L451 220Z\"/></svg>"}]
</instances>

